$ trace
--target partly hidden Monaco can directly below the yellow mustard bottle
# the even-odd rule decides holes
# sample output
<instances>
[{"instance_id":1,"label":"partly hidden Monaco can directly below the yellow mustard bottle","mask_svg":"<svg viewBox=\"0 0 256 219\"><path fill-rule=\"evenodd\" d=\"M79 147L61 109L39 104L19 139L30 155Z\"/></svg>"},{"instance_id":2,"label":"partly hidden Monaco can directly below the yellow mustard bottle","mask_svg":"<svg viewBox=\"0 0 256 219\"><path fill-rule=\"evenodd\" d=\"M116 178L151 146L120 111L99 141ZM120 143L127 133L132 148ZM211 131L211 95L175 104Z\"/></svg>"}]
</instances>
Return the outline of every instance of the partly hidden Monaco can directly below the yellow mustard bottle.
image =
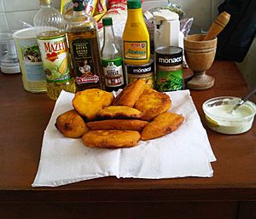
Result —
<instances>
[{"instance_id":1,"label":"partly hidden Monaco can directly below the yellow mustard bottle","mask_svg":"<svg viewBox=\"0 0 256 219\"><path fill-rule=\"evenodd\" d=\"M142 66L125 65L125 72L127 75L128 84L137 80L137 78L143 78L146 81L145 86L154 89L154 61Z\"/></svg>"}]
</instances>

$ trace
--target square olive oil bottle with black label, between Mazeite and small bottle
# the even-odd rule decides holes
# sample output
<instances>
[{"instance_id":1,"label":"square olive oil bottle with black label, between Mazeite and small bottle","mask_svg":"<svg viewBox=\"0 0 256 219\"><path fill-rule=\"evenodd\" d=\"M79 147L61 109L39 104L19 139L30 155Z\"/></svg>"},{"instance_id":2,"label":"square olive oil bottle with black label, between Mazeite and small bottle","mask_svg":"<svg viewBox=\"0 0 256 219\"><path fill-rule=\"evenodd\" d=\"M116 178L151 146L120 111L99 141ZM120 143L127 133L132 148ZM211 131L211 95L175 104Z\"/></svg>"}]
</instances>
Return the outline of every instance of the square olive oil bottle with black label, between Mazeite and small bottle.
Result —
<instances>
[{"instance_id":1,"label":"square olive oil bottle with black label, between Mazeite and small bottle","mask_svg":"<svg viewBox=\"0 0 256 219\"><path fill-rule=\"evenodd\" d=\"M66 30L77 89L104 89L96 21L86 14L83 0L73 0Z\"/></svg>"}]
</instances>

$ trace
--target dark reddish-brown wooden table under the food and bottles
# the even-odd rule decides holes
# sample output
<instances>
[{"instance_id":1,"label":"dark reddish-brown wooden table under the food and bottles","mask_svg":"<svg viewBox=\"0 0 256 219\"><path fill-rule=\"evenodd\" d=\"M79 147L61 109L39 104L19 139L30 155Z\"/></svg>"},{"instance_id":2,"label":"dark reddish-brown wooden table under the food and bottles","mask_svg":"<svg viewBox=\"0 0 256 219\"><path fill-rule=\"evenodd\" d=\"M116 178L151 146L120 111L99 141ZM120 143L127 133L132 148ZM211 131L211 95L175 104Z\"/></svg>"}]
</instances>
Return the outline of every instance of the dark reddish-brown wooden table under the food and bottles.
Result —
<instances>
[{"instance_id":1,"label":"dark reddish-brown wooden table under the food and bottles","mask_svg":"<svg viewBox=\"0 0 256 219\"><path fill-rule=\"evenodd\" d=\"M247 92L232 62L215 62L208 74L216 78L214 87L191 91L205 127L204 101ZM241 135L221 135L206 127L218 159L212 163L211 178L105 177L63 187L32 188L55 101L45 94L25 92L20 74L1 73L0 89L0 218L256 218L255 123Z\"/></svg>"}]
</instances>

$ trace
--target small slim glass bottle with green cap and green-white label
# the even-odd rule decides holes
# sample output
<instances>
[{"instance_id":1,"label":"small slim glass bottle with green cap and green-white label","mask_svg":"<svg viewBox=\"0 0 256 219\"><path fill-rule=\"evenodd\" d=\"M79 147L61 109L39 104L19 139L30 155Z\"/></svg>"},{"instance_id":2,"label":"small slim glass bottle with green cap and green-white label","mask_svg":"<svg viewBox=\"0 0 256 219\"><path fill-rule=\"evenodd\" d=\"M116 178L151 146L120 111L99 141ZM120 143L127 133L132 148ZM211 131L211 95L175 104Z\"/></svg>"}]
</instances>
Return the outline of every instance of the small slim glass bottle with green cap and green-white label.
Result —
<instances>
[{"instance_id":1,"label":"small slim glass bottle with green cap and green-white label","mask_svg":"<svg viewBox=\"0 0 256 219\"><path fill-rule=\"evenodd\" d=\"M112 18L103 18L104 41L102 46L102 66L107 91L117 91L125 87L123 58L119 45L115 43Z\"/></svg>"}]
</instances>

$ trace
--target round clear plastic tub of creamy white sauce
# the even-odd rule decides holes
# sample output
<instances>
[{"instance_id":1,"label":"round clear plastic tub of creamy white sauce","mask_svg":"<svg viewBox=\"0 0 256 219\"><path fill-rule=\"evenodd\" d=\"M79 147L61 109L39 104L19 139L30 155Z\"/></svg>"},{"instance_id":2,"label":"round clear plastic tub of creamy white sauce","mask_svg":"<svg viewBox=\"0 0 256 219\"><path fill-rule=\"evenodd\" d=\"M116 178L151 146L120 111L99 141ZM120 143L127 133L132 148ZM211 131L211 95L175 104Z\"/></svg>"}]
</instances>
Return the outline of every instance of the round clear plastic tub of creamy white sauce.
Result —
<instances>
[{"instance_id":1,"label":"round clear plastic tub of creamy white sauce","mask_svg":"<svg viewBox=\"0 0 256 219\"><path fill-rule=\"evenodd\" d=\"M236 135L250 130L256 113L256 106L252 101L246 101L235 112L233 107L240 100L234 96L220 96L205 101L202 109L205 112L207 126L219 133Z\"/></svg>"}]
</instances>

